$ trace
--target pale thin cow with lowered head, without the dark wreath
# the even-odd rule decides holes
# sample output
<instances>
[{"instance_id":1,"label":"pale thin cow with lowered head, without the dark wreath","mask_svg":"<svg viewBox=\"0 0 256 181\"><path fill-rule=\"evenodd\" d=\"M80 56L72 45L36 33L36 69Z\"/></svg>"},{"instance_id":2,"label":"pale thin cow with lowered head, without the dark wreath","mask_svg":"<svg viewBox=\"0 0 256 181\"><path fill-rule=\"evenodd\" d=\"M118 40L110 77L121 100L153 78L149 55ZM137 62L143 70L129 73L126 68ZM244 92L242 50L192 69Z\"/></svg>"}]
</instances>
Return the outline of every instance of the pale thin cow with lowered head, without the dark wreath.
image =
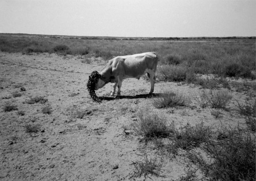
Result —
<instances>
[{"instance_id":1,"label":"pale thin cow with lowered head, without the dark wreath","mask_svg":"<svg viewBox=\"0 0 256 181\"><path fill-rule=\"evenodd\" d=\"M114 96L117 86L117 96L120 96L123 79L139 79L147 73L151 83L149 94L152 94L154 92L157 62L157 55L154 52L115 57L109 60L104 69L99 73L100 75L99 79L96 80L95 89L98 90L108 82L112 82L115 85L111 96Z\"/></svg>"}]
</instances>

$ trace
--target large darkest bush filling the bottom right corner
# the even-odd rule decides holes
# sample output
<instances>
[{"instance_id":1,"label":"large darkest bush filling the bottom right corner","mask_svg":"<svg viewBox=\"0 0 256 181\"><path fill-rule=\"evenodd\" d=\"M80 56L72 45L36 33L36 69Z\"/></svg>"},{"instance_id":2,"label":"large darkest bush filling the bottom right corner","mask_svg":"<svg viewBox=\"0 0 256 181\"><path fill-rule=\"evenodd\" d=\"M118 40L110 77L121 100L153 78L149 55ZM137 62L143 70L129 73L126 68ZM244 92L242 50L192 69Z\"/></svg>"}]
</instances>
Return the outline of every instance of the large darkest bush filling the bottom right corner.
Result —
<instances>
[{"instance_id":1,"label":"large darkest bush filling the bottom right corner","mask_svg":"<svg viewBox=\"0 0 256 181\"><path fill-rule=\"evenodd\" d=\"M190 154L191 161L211 180L255 180L255 138L241 129L223 128L216 133L216 140L203 146L211 161L195 153Z\"/></svg>"}]
</instances>

